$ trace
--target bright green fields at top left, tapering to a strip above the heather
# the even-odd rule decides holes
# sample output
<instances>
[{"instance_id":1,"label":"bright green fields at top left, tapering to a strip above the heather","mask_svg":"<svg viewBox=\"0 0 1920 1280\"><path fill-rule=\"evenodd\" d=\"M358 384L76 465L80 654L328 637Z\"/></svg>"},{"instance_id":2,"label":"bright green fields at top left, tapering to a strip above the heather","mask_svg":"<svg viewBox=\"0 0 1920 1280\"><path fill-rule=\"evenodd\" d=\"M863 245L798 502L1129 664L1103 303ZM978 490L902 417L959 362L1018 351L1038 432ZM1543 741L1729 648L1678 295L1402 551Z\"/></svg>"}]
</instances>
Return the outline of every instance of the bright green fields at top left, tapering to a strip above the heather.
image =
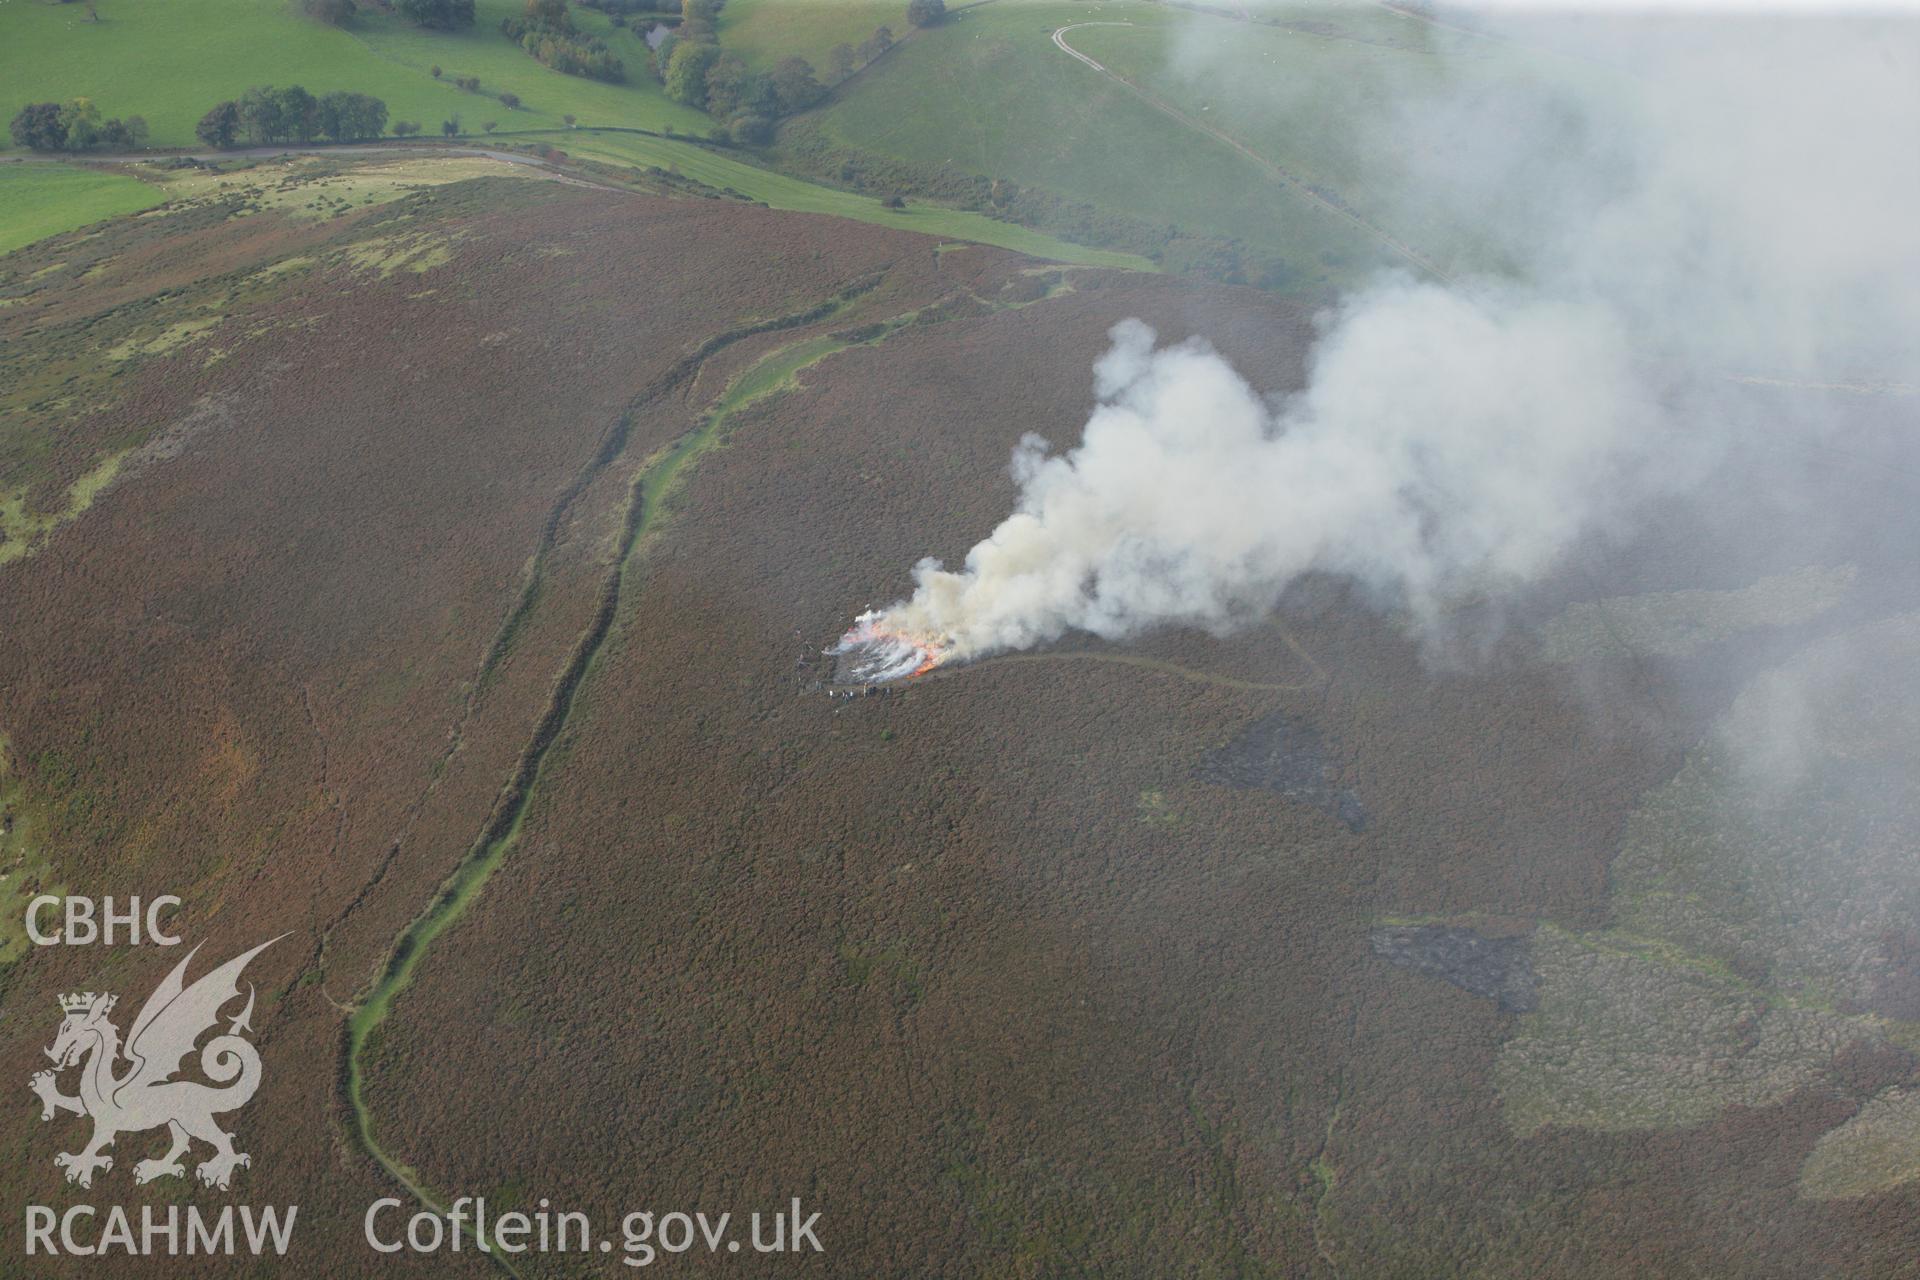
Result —
<instances>
[{"instance_id":1,"label":"bright green fields at top left, tapering to a strip above the heather","mask_svg":"<svg viewBox=\"0 0 1920 1280\"><path fill-rule=\"evenodd\" d=\"M104 115L144 115L156 148L200 146L194 125L205 109L250 84L348 88L386 100L392 119L420 121L428 132L455 115L468 132L495 121L503 142L509 132L545 130L538 138L568 154L670 169L776 209L829 213L1071 263L1152 267L1140 257L1087 249L977 213L935 205L883 209L870 196L785 177L691 142L566 130L564 115L578 117L582 127L685 134L705 134L710 121L668 102L647 73L641 38L614 31L591 10L576 6L574 17L626 58L628 83L549 71L499 35L501 15L516 8L518 0L480 0L474 29L447 35L369 8L342 31L296 17L284 0L98 0L100 23L86 23L79 6L0 0L0 81L10 102L86 96ZM434 65L442 67L438 81L430 75ZM482 92L455 88L457 75L478 75ZM501 90L518 94L522 109L507 111L497 102ZM0 107L8 115L17 109ZM0 186L0 251L163 200L132 177L38 163L12 169L38 177L10 173L13 184Z\"/></svg>"}]
</instances>

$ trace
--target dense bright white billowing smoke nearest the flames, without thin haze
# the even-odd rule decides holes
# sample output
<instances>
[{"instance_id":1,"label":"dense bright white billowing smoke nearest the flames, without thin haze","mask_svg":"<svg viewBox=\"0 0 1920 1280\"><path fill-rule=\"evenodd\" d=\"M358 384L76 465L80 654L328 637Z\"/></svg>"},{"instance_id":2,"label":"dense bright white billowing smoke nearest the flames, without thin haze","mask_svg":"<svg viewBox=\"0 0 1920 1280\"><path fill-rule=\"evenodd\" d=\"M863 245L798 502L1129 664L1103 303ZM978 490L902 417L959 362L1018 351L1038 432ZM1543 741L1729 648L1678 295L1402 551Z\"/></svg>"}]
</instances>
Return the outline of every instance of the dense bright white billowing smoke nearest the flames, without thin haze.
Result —
<instances>
[{"instance_id":1,"label":"dense bright white billowing smoke nearest the flames, without thin haze","mask_svg":"<svg viewBox=\"0 0 1920 1280\"><path fill-rule=\"evenodd\" d=\"M1496 313L1390 284L1350 303L1311 386L1273 409L1206 342L1156 349L1127 320L1079 447L1048 457L1027 436L1020 509L958 572L924 560L891 616L972 656L1068 629L1231 626L1313 568L1415 608L1530 578L1609 493L1649 480L1628 367L1603 311Z\"/></svg>"}]
</instances>

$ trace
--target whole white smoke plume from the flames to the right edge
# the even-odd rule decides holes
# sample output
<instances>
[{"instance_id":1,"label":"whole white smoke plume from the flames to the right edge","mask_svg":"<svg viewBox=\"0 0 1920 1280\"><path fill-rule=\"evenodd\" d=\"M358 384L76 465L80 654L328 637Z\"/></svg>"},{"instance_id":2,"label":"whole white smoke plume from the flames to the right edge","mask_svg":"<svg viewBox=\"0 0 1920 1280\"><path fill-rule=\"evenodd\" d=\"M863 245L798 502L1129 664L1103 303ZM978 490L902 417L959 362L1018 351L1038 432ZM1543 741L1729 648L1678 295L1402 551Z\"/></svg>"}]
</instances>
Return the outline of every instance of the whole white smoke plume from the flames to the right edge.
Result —
<instances>
[{"instance_id":1,"label":"whole white smoke plume from the flames to the right edge","mask_svg":"<svg viewBox=\"0 0 1920 1280\"><path fill-rule=\"evenodd\" d=\"M1532 21L1536 40L1567 35ZM1221 629L1309 570L1430 618L1461 591L1538 580L1730 449L1843 428L1830 395L1757 388L1908 391L1914 27L1603 35L1580 31L1624 67L1603 94L1532 84L1521 109L1428 83L1392 148L1356 140L1405 200L1480 219L1517 269L1359 288L1279 403L1204 340L1116 326L1083 439L1052 453L1027 436L1014 514L960 568L916 566L914 595L851 641L906 637L889 658L902 674L1071 629ZM1204 44L1183 58L1204 67ZM1505 198L1513 182L1526 200Z\"/></svg>"}]
</instances>

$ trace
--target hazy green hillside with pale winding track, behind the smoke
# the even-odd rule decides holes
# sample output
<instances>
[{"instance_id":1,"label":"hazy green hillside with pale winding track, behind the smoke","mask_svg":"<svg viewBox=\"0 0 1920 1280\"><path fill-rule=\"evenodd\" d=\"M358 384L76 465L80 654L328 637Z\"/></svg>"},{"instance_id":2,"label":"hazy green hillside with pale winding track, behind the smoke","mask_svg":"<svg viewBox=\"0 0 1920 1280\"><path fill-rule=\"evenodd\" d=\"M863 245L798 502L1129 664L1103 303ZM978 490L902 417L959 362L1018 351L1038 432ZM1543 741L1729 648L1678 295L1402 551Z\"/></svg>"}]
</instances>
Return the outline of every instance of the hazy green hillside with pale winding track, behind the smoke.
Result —
<instances>
[{"instance_id":1,"label":"hazy green hillside with pale winding track, behind the smoke","mask_svg":"<svg viewBox=\"0 0 1920 1280\"><path fill-rule=\"evenodd\" d=\"M1404 159L1405 113L1428 92L1503 94L1563 67L1377 6L1258 15L1144 0L972 8L860 73L787 140L816 169L883 157L935 190L981 177L1137 226L1235 238L1300 284L1482 253L1471 228L1405 207L1382 177ZM866 19L854 0L749 0L733 21L739 38L799 48L808 23L824 38ZM1062 27L1114 75L1060 50Z\"/></svg>"}]
</instances>

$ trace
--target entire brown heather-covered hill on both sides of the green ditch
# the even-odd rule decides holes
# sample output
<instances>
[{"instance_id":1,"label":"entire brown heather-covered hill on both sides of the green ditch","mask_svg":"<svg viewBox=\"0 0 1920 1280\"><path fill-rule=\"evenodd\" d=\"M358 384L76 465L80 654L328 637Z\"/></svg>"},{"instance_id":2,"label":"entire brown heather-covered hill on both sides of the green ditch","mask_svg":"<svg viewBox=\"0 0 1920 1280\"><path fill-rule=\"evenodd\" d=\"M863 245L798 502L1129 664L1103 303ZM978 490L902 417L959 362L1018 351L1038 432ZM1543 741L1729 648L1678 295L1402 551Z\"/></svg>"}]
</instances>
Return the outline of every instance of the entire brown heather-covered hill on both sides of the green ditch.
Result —
<instances>
[{"instance_id":1,"label":"entire brown heather-covered hill on both sides of the green ditch","mask_svg":"<svg viewBox=\"0 0 1920 1280\"><path fill-rule=\"evenodd\" d=\"M1206 332L1281 391L1306 315L534 184L323 230L108 234L0 261L108 263L0 309L0 338L232 301L90 388L109 409L60 418L79 426L48 474L121 439L180 447L0 568L0 731L69 885L157 881L213 948L294 931L259 961L269 1075L240 1123L246 1199L301 1205L288 1274L486 1274L359 1244L390 1184L351 1142L332 1002L497 816L609 601L518 842L365 1054L382 1146L440 1194L609 1224L822 1213L826 1257L662 1263L701 1274L1788 1278L1920 1257L1912 1184L1795 1194L1818 1136L1912 1071L1885 1042L1705 1125L1517 1134L1494 1079L1519 1019L1369 942L1409 917L1605 929L1628 814L1778 649L1720 652L1716 687L1636 654L1580 685L1523 626L1436 672L1309 581L1236 637L1073 639L887 697L828 699L797 666L914 558L993 528L1023 432L1077 436L1112 322ZM399 269L365 265L396 246ZM248 284L288 257L311 263ZM144 303L142 280L179 292ZM611 576L647 459L826 334L872 342L728 418ZM1582 574L1572 597L1688 581L1645 555ZM1281 722L1365 823L1202 768ZM144 990L167 963L35 954L0 1002L50 1032L54 992ZM0 1046L0 1080L35 1052ZM81 1196L29 1107L0 1123L27 1153L12 1203Z\"/></svg>"}]
</instances>

